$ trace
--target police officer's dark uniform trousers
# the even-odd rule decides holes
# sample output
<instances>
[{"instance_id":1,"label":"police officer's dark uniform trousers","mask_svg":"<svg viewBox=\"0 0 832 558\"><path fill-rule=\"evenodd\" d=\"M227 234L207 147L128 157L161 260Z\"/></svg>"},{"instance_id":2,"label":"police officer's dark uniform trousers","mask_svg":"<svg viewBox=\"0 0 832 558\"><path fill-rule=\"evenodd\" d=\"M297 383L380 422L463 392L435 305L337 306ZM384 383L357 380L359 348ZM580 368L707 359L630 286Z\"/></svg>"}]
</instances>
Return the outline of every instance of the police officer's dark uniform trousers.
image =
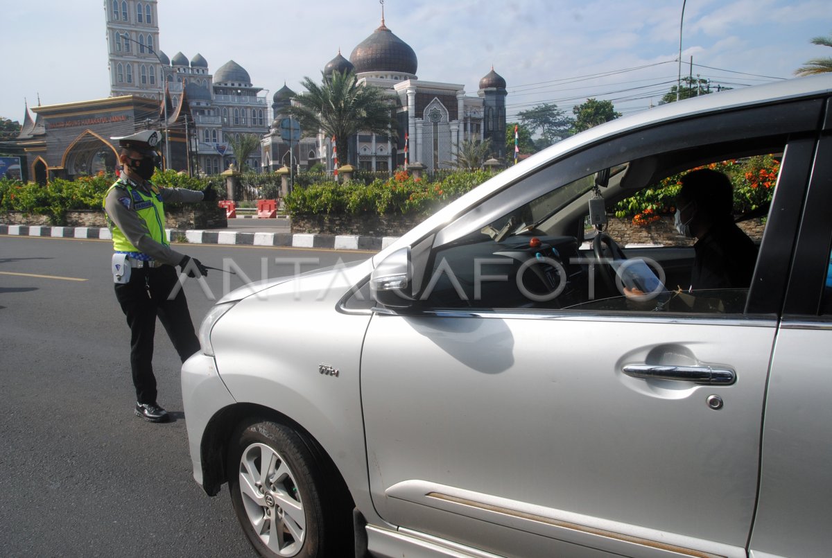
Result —
<instances>
[{"instance_id":1,"label":"police officer's dark uniform trousers","mask_svg":"<svg viewBox=\"0 0 832 558\"><path fill-rule=\"evenodd\" d=\"M136 401L140 403L156 403L156 377L153 375L156 316L183 363L200 350L185 291L179 289L176 297L168 300L177 281L176 269L172 265L161 265L132 269L129 283L116 283L116 299L130 326L130 368Z\"/></svg>"}]
</instances>

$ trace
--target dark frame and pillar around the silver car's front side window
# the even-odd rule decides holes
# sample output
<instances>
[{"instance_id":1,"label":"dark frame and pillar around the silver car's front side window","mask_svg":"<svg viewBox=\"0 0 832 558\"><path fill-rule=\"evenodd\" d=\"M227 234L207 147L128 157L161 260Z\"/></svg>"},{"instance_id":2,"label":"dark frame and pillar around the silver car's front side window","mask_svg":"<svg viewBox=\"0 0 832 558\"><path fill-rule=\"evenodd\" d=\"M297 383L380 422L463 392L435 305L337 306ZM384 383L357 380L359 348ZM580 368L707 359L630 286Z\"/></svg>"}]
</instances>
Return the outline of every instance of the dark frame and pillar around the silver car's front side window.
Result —
<instances>
[{"instance_id":1,"label":"dark frame and pillar around the silver car's front side window","mask_svg":"<svg viewBox=\"0 0 832 558\"><path fill-rule=\"evenodd\" d=\"M557 184L559 188L582 178L587 175L587 170L601 170L622 162L655 156L661 161L661 164L657 165L664 174L669 170L673 170L670 174L674 174L679 170L696 166L696 157L707 156L709 152L718 156L723 152L727 155L731 150L781 149L785 146L778 184L789 184L789 187L778 187L775 191L772 207L778 206L780 210L770 215L757 260L755 282L751 285L745 306L745 314L779 314L785 292L787 268L765 262L776 257L782 250L777 249L779 245L787 244L777 243L775 239L795 238L798 215L795 205L789 200L795 197L802 200L806 185L805 173L810 166L805 143L811 143L811 138L816 134L822 103L823 100L820 98L782 101L763 106L732 108L704 116L688 116L636 131L624 131L617 136L602 138L576 151L565 153L540 169L523 175L490 198L481 200L477 210L468 208L458 215L456 220L450 220L448 225L437 230L428 254L422 261L414 261L417 264L414 284L428 284L430 274L433 273L433 254L443 247L475 230L481 230L511 210L536 200L540 195L551 191L552 184ZM807 139L807 136L810 137ZM681 166L675 170L671 165ZM780 204L783 200L787 200L786 203ZM796 207L799 208L800 204ZM562 210L564 209L558 211ZM766 242L767 239L769 242ZM765 277L765 280L761 281L761 277ZM429 306L425 309L429 309ZM481 310L489 312L495 309L483 307ZM517 309L499 309L500 312L515 310ZM546 309L542 311L550 312ZM567 309L552 311L567 314L576 312ZM615 315L621 314L611 312ZM714 316L736 318L737 314Z\"/></svg>"}]
</instances>

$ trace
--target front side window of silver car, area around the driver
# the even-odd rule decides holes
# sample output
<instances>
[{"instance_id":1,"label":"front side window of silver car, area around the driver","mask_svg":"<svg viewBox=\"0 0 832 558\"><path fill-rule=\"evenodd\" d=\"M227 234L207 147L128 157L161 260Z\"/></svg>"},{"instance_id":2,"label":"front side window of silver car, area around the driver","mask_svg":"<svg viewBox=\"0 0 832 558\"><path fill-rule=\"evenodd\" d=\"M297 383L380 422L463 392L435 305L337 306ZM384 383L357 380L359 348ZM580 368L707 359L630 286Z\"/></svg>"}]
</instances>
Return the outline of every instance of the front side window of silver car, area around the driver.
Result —
<instances>
[{"instance_id":1,"label":"front side window of silver car, area around the driver","mask_svg":"<svg viewBox=\"0 0 832 558\"><path fill-rule=\"evenodd\" d=\"M780 152L682 166L641 188L623 187L644 161L623 161L598 185L593 170L513 207L468 235L434 247L421 304L447 309L547 309L592 312L742 314L756 253L776 188ZM673 170L680 167L674 160ZM631 168L632 167L632 168ZM681 179L708 169L728 177L735 226L750 239L740 253L748 283L691 289L696 239L674 226ZM643 173L642 173L643 174ZM539 181L539 178L536 180ZM632 180L632 175L630 175ZM514 188L522 189L522 182ZM603 197L607 223L593 226L590 200ZM593 202L596 203L596 202ZM597 206L596 206L597 207ZM731 224L731 227L734 225ZM616 244L626 257L601 243ZM612 250L612 251L611 251Z\"/></svg>"}]
</instances>

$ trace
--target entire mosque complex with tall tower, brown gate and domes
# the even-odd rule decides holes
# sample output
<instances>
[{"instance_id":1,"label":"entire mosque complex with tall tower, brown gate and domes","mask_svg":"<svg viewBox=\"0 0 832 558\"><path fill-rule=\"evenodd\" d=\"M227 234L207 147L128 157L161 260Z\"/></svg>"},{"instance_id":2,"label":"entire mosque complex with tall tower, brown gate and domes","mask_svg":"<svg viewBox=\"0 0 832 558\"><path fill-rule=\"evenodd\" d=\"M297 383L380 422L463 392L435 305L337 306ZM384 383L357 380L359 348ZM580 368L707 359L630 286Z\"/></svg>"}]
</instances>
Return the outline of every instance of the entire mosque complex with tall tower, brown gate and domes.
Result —
<instances>
[{"instance_id":1,"label":"entire mosque complex with tall tower, brown gate and domes","mask_svg":"<svg viewBox=\"0 0 832 558\"><path fill-rule=\"evenodd\" d=\"M105 0L110 96L52 106L26 107L14 151L25 159L24 178L46 183L116 166L110 138L157 127L167 132L166 168L217 174L235 161L230 139L260 136L261 150L245 163L255 170L277 170L290 161L308 169L316 163L334 169L331 138L281 138L283 110L295 95L283 86L272 97L269 114L262 87L237 62L211 74L205 57L189 60L182 52L168 58L159 45L157 0ZM463 141L492 139L493 155L505 159L506 81L493 68L468 95L461 84L418 79L413 48L384 22L354 47L349 60L340 52L324 66L356 73L359 83L386 91L395 111L396 133L359 133L339 164L392 172L408 163L428 170L453 166ZM35 114L32 118L30 111ZM290 154L291 151L291 154ZM237 161L239 164L239 161Z\"/></svg>"}]
</instances>

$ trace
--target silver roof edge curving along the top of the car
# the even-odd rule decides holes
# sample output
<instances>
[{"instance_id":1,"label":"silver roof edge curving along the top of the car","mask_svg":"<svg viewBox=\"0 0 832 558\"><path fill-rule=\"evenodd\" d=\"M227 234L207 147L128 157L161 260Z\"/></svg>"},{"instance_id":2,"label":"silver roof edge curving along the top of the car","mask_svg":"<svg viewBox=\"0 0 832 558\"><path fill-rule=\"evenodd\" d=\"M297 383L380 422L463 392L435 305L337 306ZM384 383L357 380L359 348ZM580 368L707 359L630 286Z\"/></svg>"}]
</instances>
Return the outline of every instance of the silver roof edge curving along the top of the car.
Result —
<instances>
[{"instance_id":1,"label":"silver roof edge curving along the top of the car","mask_svg":"<svg viewBox=\"0 0 832 558\"><path fill-rule=\"evenodd\" d=\"M482 185L474 188L468 194L458 200L454 200L439 210L434 215L417 225L413 230L403 235L399 240L376 255L374 260L378 262L386 254L394 249L399 249L423 238L438 226L448 223L456 215L466 210L479 200L493 195L507 185L518 180L539 167L548 165L552 160L566 156L571 151L576 151L585 146L592 145L598 141L607 140L627 131L644 127L656 126L663 122L682 120L691 116L705 115L714 112L730 111L731 109L750 106L762 106L781 101L805 99L812 97L827 96L832 92L832 74L819 74L810 77L799 77L775 83L768 83L760 86L744 87L742 89L729 89L691 97L682 101L667 103L656 106L646 111L617 118L600 126L595 126L587 131L582 131L575 136L570 136L563 141L547 147L535 153L517 165L512 165L503 170L492 179L485 181Z\"/></svg>"}]
</instances>

